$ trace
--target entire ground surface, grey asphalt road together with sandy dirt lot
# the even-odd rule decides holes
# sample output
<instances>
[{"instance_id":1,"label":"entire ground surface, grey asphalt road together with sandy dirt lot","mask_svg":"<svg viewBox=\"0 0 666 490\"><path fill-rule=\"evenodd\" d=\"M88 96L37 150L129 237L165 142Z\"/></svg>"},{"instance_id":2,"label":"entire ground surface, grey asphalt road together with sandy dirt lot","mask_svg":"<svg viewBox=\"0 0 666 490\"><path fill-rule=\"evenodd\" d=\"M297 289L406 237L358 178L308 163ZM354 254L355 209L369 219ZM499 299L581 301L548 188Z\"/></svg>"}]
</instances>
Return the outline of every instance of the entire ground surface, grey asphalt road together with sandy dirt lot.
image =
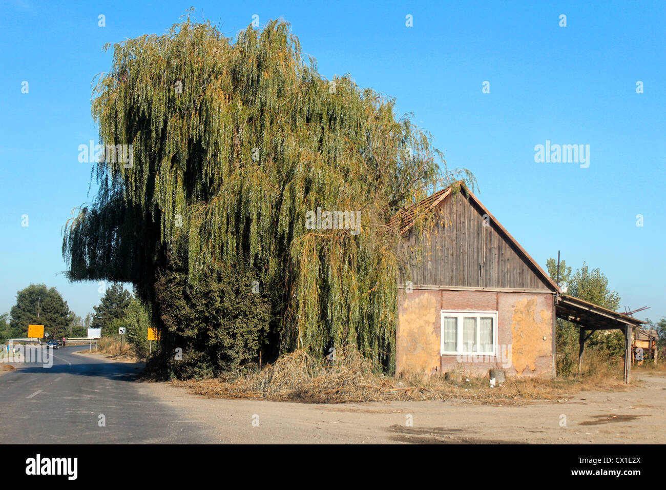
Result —
<instances>
[{"instance_id":1,"label":"entire ground surface, grey asphalt road together with sandy dirt lot","mask_svg":"<svg viewBox=\"0 0 666 490\"><path fill-rule=\"evenodd\" d=\"M474 405L219 399L137 381L140 366L54 352L0 371L0 443L663 443L666 375L557 401ZM105 425L100 425L104 415ZM566 423L563 424L563 416ZM412 425L408 425L409 420Z\"/></svg>"}]
</instances>

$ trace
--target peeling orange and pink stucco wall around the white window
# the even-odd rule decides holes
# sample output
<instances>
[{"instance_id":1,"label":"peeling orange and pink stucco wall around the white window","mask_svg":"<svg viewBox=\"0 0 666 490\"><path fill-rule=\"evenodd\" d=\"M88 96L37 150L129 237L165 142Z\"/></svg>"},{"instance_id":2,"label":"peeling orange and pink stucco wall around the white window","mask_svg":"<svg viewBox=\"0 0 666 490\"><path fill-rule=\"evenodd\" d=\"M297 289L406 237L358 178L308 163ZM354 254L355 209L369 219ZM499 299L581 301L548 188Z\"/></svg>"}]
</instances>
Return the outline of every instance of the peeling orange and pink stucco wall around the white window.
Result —
<instances>
[{"instance_id":1,"label":"peeling orange and pink stucco wall around the white window","mask_svg":"<svg viewBox=\"0 0 666 490\"><path fill-rule=\"evenodd\" d=\"M441 311L498 311L498 356L440 355ZM462 364L471 373L503 367L509 375L551 375L553 296L547 293L401 290L396 373L440 374Z\"/></svg>"}]
</instances>

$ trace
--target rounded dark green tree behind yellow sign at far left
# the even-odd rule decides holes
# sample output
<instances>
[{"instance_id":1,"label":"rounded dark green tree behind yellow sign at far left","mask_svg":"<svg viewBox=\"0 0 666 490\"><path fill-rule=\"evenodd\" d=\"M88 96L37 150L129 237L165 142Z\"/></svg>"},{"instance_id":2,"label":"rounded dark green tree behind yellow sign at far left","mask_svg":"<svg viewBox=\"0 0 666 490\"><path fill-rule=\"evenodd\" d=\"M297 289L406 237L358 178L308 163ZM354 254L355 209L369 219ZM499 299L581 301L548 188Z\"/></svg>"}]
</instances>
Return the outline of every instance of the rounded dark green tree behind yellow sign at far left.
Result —
<instances>
[{"instance_id":1,"label":"rounded dark green tree behind yellow sign at far left","mask_svg":"<svg viewBox=\"0 0 666 490\"><path fill-rule=\"evenodd\" d=\"M17 293L16 304L11 307L11 335L7 337L27 337L28 325L44 325L44 332L48 332L51 339L58 339L67 332L69 307L55 287L31 284Z\"/></svg>"}]
</instances>

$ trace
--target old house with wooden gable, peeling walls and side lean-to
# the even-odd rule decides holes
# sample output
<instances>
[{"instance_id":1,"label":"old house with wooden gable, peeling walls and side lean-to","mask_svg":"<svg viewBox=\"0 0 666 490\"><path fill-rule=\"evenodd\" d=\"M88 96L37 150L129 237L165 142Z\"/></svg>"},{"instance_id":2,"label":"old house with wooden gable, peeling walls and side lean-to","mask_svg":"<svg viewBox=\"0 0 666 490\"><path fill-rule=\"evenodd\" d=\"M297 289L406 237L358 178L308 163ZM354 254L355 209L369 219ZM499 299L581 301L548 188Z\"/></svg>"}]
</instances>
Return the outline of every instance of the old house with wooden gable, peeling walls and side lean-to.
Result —
<instances>
[{"instance_id":1,"label":"old house with wooden gable, peeling walls and side lean-to","mask_svg":"<svg viewBox=\"0 0 666 490\"><path fill-rule=\"evenodd\" d=\"M640 321L563 295L469 189L456 190L442 189L392 220L404 236L396 373L500 367L554 376L556 317L581 326L581 345L586 331L602 328L631 339ZM419 239L422 213L434 213L436 225Z\"/></svg>"}]
</instances>

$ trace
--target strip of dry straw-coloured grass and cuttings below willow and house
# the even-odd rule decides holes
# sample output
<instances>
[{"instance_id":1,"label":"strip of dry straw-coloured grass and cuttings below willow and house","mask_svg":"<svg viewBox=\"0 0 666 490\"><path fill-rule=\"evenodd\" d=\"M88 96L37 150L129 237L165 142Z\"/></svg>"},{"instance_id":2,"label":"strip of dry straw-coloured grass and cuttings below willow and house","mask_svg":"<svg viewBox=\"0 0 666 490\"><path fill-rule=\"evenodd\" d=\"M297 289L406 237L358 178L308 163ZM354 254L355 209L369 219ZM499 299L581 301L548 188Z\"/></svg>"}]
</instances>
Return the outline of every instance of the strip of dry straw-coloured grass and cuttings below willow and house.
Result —
<instances>
[{"instance_id":1,"label":"strip of dry straw-coloured grass and cuttings below willow and house","mask_svg":"<svg viewBox=\"0 0 666 490\"><path fill-rule=\"evenodd\" d=\"M594 364L588 367L585 375L572 379L509 377L506 383L492 388L488 376L474 376L464 371L460 371L462 380L458 383L424 373L412 373L402 378L386 377L376 373L356 351L338 351L335 361L330 364L314 359L306 351L296 351L280 357L258 373L172 381L172 384L210 397L302 403L457 399L468 403L506 405L531 400L565 401L583 390L626 389L612 369L601 371Z\"/></svg>"}]
</instances>

